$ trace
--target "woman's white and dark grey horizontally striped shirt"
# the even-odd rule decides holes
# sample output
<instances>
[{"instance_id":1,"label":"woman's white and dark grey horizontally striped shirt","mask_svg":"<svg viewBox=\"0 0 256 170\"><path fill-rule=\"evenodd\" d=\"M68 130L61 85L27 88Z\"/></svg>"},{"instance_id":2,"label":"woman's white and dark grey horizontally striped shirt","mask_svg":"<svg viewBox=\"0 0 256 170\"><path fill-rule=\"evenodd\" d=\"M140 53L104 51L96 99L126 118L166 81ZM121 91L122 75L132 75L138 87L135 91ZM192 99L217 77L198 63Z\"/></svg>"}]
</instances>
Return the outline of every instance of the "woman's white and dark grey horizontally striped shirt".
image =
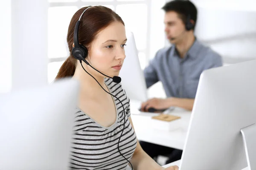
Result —
<instances>
[{"instance_id":1,"label":"woman's white and dark grey horizontally striped shirt","mask_svg":"<svg viewBox=\"0 0 256 170\"><path fill-rule=\"evenodd\" d=\"M116 105L116 122L110 127L103 127L95 120L76 108L76 118L72 147L70 154L70 169L76 170L125 170L128 162L120 155L117 144L123 130L125 116L125 130L119 142L119 149L126 159L130 160L137 146L137 138L128 117L130 116L130 101L120 83L112 79L105 79Z\"/></svg>"}]
</instances>

